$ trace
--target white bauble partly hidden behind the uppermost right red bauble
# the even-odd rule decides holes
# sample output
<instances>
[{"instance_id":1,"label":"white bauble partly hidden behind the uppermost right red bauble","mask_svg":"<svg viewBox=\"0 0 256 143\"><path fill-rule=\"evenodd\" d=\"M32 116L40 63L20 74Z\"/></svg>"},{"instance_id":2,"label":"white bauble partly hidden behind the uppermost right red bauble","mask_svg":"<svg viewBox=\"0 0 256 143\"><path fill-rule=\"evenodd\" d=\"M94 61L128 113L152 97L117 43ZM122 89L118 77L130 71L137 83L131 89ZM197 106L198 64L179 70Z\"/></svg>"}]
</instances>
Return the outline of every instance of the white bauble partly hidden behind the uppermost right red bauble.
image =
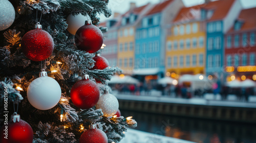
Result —
<instances>
[{"instance_id":1,"label":"white bauble partly hidden behind the uppermost right red bauble","mask_svg":"<svg viewBox=\"0 0 256 143\"><path fill-rule=\"evenodd\" d=\"M86 16L83 16L82 14L79 15L69 15L67 17L67 24L68 24L68 32L72 35L76 34L76 31L84 25L84 22L86 22L88 18Z\"/></svg>"}]
</instances>

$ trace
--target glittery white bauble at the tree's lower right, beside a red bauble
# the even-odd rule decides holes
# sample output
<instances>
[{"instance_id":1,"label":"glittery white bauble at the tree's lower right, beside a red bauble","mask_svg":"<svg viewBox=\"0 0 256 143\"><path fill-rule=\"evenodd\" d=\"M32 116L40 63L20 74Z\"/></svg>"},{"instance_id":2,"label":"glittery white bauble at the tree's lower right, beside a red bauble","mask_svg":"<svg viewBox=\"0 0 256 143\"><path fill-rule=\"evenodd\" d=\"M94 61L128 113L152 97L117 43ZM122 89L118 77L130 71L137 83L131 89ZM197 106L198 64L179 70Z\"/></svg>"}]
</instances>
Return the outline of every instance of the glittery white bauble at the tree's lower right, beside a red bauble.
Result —
<instances>
[{"instance_id":1,"label":"glittery white bauble at the tree's lower right, beside a red bauble","mask_svg":"<svg viewBox=\"0 0 256 143\"><path fill-rule=\"evenodd\" d=\"M102 109L104 117L111 117L115 115L118 108L119 103L116 97L104 90L104 94L99 97L99 101L96 104L96 109Z\"/></svg>"}]
</instances>

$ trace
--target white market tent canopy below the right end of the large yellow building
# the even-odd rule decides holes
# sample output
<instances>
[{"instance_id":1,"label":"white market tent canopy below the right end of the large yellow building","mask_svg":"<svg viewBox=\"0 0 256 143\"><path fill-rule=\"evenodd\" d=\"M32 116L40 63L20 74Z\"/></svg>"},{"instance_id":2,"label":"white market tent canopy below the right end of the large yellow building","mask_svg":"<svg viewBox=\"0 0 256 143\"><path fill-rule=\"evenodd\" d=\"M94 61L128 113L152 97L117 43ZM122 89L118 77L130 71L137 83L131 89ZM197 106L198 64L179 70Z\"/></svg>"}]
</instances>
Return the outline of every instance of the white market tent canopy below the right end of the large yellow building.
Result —
<instances>
[{"instance_id":1,"label":"white market tent canopy below the right end of the large yellow building","mask_svg":"<svg viewBox=\"0 0 256 143\"><path fill-rule=\"evenodd\" d=\"M203 74L196 74L196 75L190 75L190 74L184 74L179 78L179 84L182 84L183 82L190 82L191 83L191 90L196 89L210 89L212 85L212 81L210 81L207 76Z\"/></svg>"}]
</instances>

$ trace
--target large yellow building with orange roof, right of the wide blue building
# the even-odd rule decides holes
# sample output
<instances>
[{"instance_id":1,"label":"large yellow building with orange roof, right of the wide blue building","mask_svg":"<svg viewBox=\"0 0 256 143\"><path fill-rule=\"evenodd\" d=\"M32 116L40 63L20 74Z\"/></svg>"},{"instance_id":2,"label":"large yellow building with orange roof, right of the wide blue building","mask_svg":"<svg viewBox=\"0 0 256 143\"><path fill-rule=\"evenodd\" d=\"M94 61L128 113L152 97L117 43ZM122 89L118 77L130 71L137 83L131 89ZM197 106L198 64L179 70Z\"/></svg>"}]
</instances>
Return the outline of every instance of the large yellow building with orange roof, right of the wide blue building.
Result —
<instances>
[{"instance_id":1,"label":"large yellow building with orange roof, right of the wide blue building","mask_svg":"<svg viewBox=\"0 0 256 143\"><path fill-rule=\"evenodd\" d=\"M165 55L167 76L205 72L206 32L198 9L200 6L182 8L169 29Z\"/></svg>"}]
</instances>

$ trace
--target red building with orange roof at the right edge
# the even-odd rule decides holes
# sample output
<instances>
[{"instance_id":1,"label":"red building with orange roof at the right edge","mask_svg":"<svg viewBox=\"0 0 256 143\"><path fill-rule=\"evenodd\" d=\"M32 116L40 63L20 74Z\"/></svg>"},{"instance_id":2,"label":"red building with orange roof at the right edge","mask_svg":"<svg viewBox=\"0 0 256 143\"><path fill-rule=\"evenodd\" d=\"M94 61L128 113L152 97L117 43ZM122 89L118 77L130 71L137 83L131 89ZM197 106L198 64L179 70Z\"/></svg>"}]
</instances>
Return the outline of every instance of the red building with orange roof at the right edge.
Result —
<instances>
[{"instance_id":1,"label":"red building with orange roof at the right edge","mask_svg":"<svg viewBox=\"0 0 256 143\"><path fill-rule=\"evenodd\" d=\"M233 74L237 79L256 80L255 13L256 8L242 10L225 35L225 70L229 77Z\"/></svg>"}]
</instances>

